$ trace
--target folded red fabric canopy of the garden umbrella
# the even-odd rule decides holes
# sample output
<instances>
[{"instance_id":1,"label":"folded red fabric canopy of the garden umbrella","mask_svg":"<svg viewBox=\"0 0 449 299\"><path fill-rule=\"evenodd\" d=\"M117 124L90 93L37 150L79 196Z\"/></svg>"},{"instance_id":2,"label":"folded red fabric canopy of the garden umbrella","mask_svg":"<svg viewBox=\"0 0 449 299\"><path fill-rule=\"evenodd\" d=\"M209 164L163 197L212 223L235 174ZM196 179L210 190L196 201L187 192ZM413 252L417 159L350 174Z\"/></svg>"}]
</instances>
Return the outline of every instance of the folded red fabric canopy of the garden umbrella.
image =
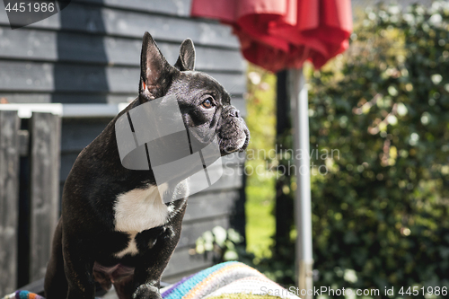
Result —
<instances>
[{"instance_id":1,"label":"folded red fabric canopy of the garden umbrella","mask_svg":"<svg viewBox=\"0 0 449 299\"><path fill-rule=\"evenodd\" d=\"M231 24L243 56L272 72L315 68L348 48L350 0L194 0L191 15Z\"/></svg>"}]
</instances>

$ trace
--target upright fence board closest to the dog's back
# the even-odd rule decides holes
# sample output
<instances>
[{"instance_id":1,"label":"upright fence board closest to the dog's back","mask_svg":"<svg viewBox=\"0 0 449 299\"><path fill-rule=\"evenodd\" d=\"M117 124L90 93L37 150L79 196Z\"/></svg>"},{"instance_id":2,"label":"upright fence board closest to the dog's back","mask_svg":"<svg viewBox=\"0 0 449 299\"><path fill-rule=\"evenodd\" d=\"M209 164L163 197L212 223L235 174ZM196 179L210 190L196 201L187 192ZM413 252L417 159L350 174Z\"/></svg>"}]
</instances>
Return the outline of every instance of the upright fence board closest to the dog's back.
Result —
<instances>
[{"instance_id":1,"label":"upright fence board closest to the dog's back","mask_svg":"<svg viewBox=\"0 0 449 299\"><path fill-rule=\"evenodd\" d=\"M45 275L59 213L60 119L50 113L31 118L30 279Z\"/></svg>"}]
</instances>

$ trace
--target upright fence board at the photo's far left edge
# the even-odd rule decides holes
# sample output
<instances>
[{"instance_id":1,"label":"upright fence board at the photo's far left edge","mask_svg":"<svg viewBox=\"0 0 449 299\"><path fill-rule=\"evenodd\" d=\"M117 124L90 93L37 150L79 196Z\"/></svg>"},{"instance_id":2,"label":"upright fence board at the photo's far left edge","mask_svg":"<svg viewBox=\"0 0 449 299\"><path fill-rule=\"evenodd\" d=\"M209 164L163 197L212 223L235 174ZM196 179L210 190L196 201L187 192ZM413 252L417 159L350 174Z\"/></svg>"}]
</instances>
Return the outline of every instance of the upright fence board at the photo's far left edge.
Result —
<instances>
[{"instance_id":1,"label":"upright fence board at the photo's far left edge","mask_svg":"<svg viewBox=\"0 0 449 299\"><path fill-rule=\"evenodd\" d=\"M0 111L0 294L17 287L19 135L16 111Z\"/></svg>"}]
</instances>

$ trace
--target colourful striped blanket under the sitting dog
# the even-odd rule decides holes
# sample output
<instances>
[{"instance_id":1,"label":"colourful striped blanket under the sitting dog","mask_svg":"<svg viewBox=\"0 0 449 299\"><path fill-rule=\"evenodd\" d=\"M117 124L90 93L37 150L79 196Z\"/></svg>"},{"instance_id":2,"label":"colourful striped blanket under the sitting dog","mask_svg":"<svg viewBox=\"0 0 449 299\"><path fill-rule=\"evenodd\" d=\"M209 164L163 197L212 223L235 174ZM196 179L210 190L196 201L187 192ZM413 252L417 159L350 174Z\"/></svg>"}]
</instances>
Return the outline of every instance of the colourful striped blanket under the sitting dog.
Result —
<instances>
[{"instance_id":1,"label":"colourful striped blanket under the sitting dog","mask_svg":"<svg viewBox=\"0 0 449 299\"><path fill-rule=\"evenodd\" d=\"M258 270L241 262L228 261L185 277L161 289L163 299L299 299ZM4 299L45 299L17 291Z\"/></svg>"}]
</instances>

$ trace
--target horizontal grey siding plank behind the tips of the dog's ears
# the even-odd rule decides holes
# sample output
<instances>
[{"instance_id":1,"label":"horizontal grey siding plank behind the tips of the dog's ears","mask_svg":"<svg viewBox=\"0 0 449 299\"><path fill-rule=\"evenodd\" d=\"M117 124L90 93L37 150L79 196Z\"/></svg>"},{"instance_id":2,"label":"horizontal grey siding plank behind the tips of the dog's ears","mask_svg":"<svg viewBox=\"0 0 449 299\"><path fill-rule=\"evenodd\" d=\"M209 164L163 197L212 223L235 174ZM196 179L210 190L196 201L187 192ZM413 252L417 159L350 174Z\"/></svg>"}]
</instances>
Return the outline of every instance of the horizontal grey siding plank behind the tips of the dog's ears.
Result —
<instances>
[{"instance_id":1,"label":"horizontal grey siding plank behind the tips of the dog's ears","mask_svg":"<svg viewBox=\"0 0 449 299\"><path fill-rule=\"evenodd\" d=\"M0 31L0 58L83 62L101 65L139 66L141 37L123 39L72 32L39 31L24 28L21 31ZM186 38L189 35L186 35ZM157 40L156 40L157 41ZM158 42L163 55L174 64L180 43ZM203 70L242 71L242 55L237 49L196 46L197 68ZM217 59L217 57L220 57Z\"/></svg>"}]
</instances>

